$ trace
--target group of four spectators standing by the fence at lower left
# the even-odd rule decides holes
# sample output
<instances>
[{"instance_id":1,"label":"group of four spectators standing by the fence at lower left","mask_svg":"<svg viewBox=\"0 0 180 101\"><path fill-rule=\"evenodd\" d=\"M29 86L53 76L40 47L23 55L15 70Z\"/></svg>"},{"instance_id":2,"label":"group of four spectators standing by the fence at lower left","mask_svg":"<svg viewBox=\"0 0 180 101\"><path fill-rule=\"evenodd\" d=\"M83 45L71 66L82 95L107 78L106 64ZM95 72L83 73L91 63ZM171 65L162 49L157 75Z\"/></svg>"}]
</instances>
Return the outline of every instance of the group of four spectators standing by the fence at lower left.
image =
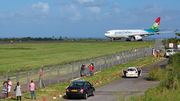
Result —
<instances>
[{"instance_id":1,"label":"group of four spectators standing by the fence at lower left","mask_svg":"<svg viewBox=\"0 0 180 101\"><path fill-rule=\"evenodd\" d=\"M31 91L31 99L36 99L34 90L35 90L35 84L33 83L33 80L31 80L31 83L29 84L30 91ZM4 99L11 99L11 88L12 88L12 82L10 79L8 81L4 81L3 83L3 89L2 94ZM21 100L21 86L19 82L17 82L17 85L14 88L14 91L16 92L17 100Z\"/></svg>"}]
</instances>

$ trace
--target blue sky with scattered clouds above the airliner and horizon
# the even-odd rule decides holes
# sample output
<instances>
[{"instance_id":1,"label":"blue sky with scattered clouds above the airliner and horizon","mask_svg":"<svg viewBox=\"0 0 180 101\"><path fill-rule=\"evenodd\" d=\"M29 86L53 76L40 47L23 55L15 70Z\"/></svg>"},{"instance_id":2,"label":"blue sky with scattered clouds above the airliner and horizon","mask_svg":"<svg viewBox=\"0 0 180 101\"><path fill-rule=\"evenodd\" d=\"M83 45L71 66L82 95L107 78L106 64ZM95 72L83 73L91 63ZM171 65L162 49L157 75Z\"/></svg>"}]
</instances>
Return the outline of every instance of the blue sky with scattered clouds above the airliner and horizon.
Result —
<instances>
[{"instance_id":1,"label":"blue sky with scattered clouds above the airliner and horizon","mask_svg":"<svg viewBox=\"0 0 180 101\"><path fill-rule=\"evenodd\" d=\"M1 0L0 37L101 37L112 29L178 29L180 0ZM179 31L177 31L179 32ZM166 34L149 38L165 38ZM168 33L167 37L175 37Z\"/></svg>"}]
</instances>

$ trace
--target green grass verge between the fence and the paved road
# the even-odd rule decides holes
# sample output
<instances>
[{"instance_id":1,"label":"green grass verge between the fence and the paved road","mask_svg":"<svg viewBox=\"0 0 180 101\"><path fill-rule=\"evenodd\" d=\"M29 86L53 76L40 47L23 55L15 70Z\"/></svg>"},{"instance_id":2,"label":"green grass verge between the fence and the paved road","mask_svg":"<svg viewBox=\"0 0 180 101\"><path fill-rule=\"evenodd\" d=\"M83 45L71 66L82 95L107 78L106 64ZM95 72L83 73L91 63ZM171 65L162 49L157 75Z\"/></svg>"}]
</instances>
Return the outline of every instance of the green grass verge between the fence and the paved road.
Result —
<instances>
[{"instance_id":1,"label":"green grass verge between the fence and the paved road","mask_svg":"<svg viewBox=\"0 0 180 101\"><path fill-rule=\"evenodd\" d=\"M128 63L124 63L124 64L116 65L108 69L104 69L101 72L95 74L93 77L85 77L85 78L82 78L81 80L84 79L85 81L89 81L91 83L94 82L94 86L99 87L107 83L110 83L114 80L120 79L122 75L117 76L117 74L120 74L120 72L122 72L122 69L124 67L137 66L137 65L147 63L147 65L142 67L142 68L145 68L146 66L154 64L159 61L157 60L156 62L151 62L154 59L157 59L157 58L154 56L148 56L148 57L144 57L138 60L133 60ZM113 74L115 74L115 77L113 77ZM109 77L109 81L107 80L104 81L104 78L107 78L107 76ZM102 79L102 83L95 84L96 80L100 80L100 79ZM41 89L36 90L35 93L36 93L37 101L42 101L43 97L46 98L46 101L52 101L53 94L56 94L56 96L58 96L60 92L62 92L62 94L64 95L65 90L69 86L70 83L71 82L67 82L63 84L55 84L55 85L48 86L46 88L41 88ZM22 98L23 100L29 101L28 98L30 98L30 93L23 94L22 97L23 97ZM64 98L66 98L66 96L64 96ZM57 99L54 101L63 101L64 98L57 97ZM9 99L8 101L11 101L11 100L12 99Z\"/></svg>"}]
</instances>

